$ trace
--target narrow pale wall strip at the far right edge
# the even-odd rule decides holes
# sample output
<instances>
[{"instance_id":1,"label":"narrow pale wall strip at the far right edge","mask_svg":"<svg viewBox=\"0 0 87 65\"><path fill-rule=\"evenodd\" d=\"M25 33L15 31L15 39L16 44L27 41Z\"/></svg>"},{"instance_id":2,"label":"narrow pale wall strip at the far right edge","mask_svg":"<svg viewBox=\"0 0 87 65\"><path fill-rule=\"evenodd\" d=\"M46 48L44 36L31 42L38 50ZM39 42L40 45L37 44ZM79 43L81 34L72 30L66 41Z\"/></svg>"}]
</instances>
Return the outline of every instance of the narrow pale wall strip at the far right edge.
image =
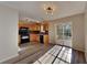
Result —
<instances>
[{"instance_id":1,"label":"narrow pale wall strip at the far right edge","mask_svg":"<svg viewBox=\"0 0 87 65\"><path fill-rule=\"evenodd\" d=\"M85 9L85 56L87 62L87 4Z\"/></svg>"}]
</instances>

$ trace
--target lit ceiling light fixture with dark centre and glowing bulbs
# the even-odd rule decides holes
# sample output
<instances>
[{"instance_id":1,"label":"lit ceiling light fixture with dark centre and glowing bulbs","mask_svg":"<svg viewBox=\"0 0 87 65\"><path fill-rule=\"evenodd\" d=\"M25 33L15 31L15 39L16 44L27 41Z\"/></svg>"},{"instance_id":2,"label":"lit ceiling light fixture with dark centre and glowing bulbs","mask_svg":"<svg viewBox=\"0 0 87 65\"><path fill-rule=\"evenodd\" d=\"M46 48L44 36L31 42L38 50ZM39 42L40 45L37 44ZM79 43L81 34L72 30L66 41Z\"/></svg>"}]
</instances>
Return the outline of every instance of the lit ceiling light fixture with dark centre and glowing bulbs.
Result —
<instances>
[{"instance_id":1,"label":"lit ceiling light fixture with dark centre and glowing bulbs","mask_svg":"<svg viewBox=\"0 0 87 65\"><path fill-rule=\"evenodd\" d=\"M44 4L44 11L47 15L53 15L55 11L55 6L53 3Z\"/></svg>"}]
</instances>

